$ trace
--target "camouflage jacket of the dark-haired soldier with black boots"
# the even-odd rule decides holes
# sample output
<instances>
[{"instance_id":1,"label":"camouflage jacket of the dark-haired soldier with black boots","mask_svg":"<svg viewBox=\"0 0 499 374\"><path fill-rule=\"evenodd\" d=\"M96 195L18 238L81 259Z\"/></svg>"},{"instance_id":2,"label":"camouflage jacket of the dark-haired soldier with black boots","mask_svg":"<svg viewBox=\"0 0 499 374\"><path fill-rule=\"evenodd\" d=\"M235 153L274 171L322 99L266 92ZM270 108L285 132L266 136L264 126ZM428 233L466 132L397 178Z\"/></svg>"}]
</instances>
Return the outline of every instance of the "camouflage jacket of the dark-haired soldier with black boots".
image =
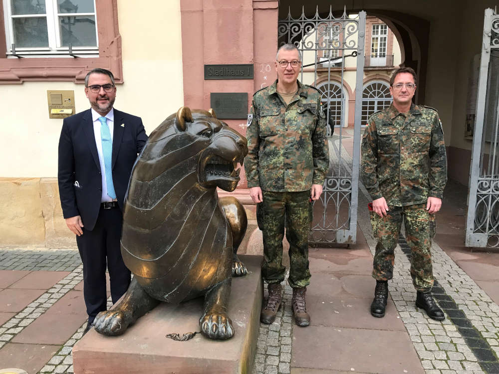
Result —
<instances>
[{"instance_id":1,"label":"camouflage jacket of the dark-haired soldier with black boots","mask_svg":"<svg viewBox=\"0 0 499 374\"><path fill-rule=\"evenodd\" d=\"M373 114L362 137L361 169L372 199L384 197L388 205L442 198L447 156L437 111L412 104L404 115L392 104Z\"/></svg>"}]
</instances>

